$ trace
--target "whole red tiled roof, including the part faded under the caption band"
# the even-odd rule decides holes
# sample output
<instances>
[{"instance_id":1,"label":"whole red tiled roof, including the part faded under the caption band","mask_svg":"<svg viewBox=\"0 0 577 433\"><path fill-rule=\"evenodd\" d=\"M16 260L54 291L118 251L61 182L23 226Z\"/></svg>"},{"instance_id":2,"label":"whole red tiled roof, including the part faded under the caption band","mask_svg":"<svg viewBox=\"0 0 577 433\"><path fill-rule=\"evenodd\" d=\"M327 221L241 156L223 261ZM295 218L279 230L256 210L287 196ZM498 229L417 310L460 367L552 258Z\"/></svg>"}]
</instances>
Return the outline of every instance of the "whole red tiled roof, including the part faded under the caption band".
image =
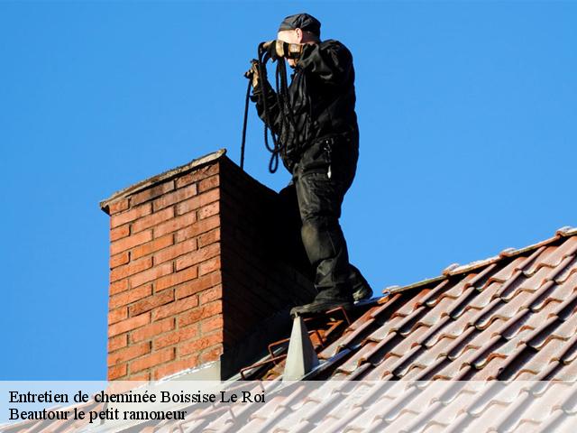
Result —
<instances>
[{"instance_id":1,"label":"whole red tiled roof, including the part faded under the caption band","mask_svg":"<svg viewBox=\"0 0 577 433\"><path fill-rule=\"evenodd\" d=\"M195 408L179 431L572 431L575 309L577 229L563 228L542 243L389 288L379 302L357 310L348 327L343 319L329 320L318 329L328 343L319 349L324 362L314 378L343 382L321 382L314 392L302 384L288 393L279 392L279 380L265 382L266 404ZM310 330L320 346L316 328ZM259 377L281 372L279 364ZM374 382L352 382L361 379ZM431 385L447 379L469 381L450 383L472 383L472 389ZM471 382L480 380L573 386L533 382L534 388L496 392L488 383L506 382ZM419 389L406 381L429 382ZM353 386L364 391L352 392ZM140 430L171 428L154 422Z\"/></svg>"}]
</instances>

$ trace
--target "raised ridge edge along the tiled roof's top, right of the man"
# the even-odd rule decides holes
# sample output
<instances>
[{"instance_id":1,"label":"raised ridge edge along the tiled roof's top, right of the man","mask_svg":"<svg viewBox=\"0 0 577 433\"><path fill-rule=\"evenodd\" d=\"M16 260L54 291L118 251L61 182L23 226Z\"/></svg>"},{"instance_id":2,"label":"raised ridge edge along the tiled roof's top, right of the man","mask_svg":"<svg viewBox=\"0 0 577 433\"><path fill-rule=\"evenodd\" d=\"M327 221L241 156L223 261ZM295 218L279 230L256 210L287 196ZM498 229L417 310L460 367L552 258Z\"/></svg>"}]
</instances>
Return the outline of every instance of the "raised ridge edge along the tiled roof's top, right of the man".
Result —
<instances>
[{"instance_id":1,"label":"raised ridge edge along the tiled roof's top, right of the man","mask_svg":"<svg viewBox=\"0 0 577 433\"><path fill-rule=\"evenodd\" d=\"M441 272L441 275L438 275L433 278L427 278L426 280L417 281L404 286L398 286L398 285L389 286L386 287L382 291L382 293L384 295L388 295L392 293L398 293L400 291L418 289L433 282L443 281L444 279L452 277L454 275L472 272L477 269L489 266L490 264L498 263L505 258L512 258L523 253L528 253L542 246L553 244L554 242L558 241L559 239L562 239L563 237L572 237L574 235L577 235L577 227L563 226L555 230L555 234L553 237L545 239L544 241L541 242L537 242L536 244L529 244L522 248L510 248L510 247L505 248L497 255L493 255L491 257L488 257L487 259L477 260L467 264L451 263L449 266L444 268L444 270Z\"/></svg>"}]
</instances>

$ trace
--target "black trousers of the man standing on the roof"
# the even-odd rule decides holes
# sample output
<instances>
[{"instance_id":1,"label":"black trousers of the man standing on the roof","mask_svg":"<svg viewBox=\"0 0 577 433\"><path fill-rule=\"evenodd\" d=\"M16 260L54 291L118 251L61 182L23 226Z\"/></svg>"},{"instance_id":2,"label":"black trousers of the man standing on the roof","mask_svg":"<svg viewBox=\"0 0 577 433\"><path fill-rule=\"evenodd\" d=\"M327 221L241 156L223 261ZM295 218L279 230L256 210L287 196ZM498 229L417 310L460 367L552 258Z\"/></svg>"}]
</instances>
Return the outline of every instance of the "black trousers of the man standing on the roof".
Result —
<instances>
[{"instance_id":1,"label":"black trousers of the man standing on the roof","mask_svg":"<svg viewBox=\"0 0 577 433\"><path fill-rule=\"evenodd\" d=\"M292 221L285 235L302 241L319 300L353 300L353 287L366 284L361 272L349 263L339 224L358 155L358 144L343 137L318 142L294 166L291 184L279 193L284 218Z\"/></svg>"}]
</instances>

